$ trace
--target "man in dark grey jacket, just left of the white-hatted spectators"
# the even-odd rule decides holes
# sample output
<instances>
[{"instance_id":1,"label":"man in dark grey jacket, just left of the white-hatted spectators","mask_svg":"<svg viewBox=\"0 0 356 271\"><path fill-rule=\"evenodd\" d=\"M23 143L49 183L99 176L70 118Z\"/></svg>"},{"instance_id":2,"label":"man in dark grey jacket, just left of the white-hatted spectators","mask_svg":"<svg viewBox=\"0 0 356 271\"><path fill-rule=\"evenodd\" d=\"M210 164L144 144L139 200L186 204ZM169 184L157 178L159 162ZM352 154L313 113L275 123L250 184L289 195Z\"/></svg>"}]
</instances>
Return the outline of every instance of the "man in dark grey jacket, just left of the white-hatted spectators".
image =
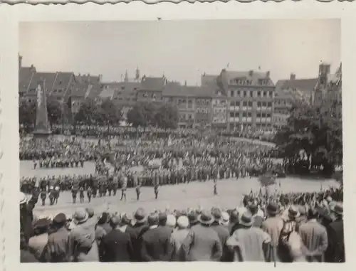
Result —
<instances>
[{"instance_id":1,"label":"man in dark grey jacket, just left of the white-hatted spectators","mask_svg":"<svg viewBox=\"0 0 356 271\"><path fill-rule=\"evenodd\" d=\"M172 228L167 226L159 227L158 224L159 216L157 213L152 213L148 217L148 225L150 228L142 235L141 256L145 262L167 262L171 260Z\"/></svg>"}]
</instances>

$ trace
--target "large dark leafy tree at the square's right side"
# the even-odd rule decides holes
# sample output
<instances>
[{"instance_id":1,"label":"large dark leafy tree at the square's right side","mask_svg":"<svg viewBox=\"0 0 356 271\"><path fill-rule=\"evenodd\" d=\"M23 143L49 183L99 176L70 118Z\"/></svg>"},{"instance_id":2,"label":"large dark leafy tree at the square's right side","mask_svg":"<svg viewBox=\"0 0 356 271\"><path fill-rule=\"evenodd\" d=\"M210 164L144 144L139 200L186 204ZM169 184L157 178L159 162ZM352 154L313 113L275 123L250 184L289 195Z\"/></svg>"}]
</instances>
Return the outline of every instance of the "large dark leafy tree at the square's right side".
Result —
<instances>
[{"instance_id":1,"label":"large dark leafy tree at the square's right side","mask_svg":"<svg viewBox=\"0 0 356 271\"><path fill-rule=\"evenodd\" d=\"M332 175L342 165L342 119L321 107L298 104L290 110L286 127L276 134L276 145L289 164L323 168Z\"/></svg>"}]
</instances>

